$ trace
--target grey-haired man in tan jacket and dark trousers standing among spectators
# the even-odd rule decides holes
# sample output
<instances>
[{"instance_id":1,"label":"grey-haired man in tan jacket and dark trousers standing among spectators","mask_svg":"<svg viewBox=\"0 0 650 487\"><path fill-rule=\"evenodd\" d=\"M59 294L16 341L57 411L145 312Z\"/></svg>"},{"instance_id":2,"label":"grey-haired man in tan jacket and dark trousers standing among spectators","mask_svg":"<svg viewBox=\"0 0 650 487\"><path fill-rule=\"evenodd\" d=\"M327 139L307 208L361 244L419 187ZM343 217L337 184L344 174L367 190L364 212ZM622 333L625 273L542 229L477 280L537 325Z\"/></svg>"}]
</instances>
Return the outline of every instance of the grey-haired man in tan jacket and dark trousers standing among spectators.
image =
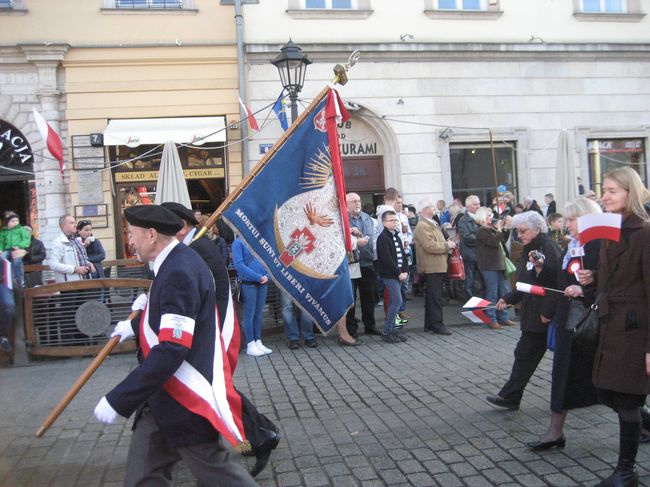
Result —
<instances>
[{"instance_id":1,"label":"grey-haired man in tan jacket and dark trousers standing among spectators","mask_svg":"<svg viewBox=\"0 0 650 487\"><path fill-rule=\"evenodd\" d=\"M440 225L433 219L435 207L431 200L418 203L420 221L415 227L413 241L418 256L418 272L424 273L424 330L439 335L451 335L442 321L442 281L447 273L447 254L456 248L453 240L445 240Z\"/></svg>"}]
</instances>

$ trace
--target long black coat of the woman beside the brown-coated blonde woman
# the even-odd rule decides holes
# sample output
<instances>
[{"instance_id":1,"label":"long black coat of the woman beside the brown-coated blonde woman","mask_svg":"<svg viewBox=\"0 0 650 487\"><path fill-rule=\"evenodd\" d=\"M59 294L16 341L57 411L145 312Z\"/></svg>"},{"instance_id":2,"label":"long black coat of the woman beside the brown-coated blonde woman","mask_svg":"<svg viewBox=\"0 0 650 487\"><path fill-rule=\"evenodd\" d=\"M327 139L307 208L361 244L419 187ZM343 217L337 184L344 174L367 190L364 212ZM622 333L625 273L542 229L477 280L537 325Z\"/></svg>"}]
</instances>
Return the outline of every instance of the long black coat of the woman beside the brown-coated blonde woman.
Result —
<instances>
[{"instance_id":1,"label":"long black coat of the woman beside the brown-coated blonde woman","mask_svg":"<svg viewBox=\"0 0 650 487\"><path fill-rule=\"evenodd\" d=\"M585 245L582 258L585 269L598 268L600 240L592 240ZM566 253L566 251L565 251ZM570 261L569 261L570 262ZM562 259L558 266L558 289L577 285L573 274L562 269ZM594 351L585 351L575 347L573 332L565 330L569 313L569 299L558 295L555 312L557 324L556 348L553 355L553 380L551 382L551 410L561 413L566 409L582 408L598 404L596 388L591 382L594 366ZM583 305L590 306L591 300L582 300Z\"/></svg>"}]
</instances>

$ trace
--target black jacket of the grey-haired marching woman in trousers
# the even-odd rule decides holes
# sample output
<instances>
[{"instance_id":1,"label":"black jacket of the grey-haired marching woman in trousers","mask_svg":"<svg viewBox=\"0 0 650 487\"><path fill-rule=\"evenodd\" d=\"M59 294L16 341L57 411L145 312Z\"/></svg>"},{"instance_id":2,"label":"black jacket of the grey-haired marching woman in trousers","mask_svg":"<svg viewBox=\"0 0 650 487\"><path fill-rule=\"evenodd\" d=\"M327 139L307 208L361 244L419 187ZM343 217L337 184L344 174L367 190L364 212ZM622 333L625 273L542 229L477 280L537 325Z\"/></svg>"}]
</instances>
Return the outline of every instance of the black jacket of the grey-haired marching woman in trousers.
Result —
<instances>
[{"instance_id":1,"label":"black jacket of the grey-haired marching woman in trousers","mask_svg":"<svg viewBox=\"0 0 650 487\"><path fill-rule=\"evenodd\" d=\"M544 254L546 260L544 267L539 275L535 269L528 270L529 252L537 250ZM560 249L555 242L540 233L528 245L524 246L521 260L517 264L517 281L536 286L549 287L557 289L557 266L560 258ZM521 302L521 330L531 333L546 333L547 325L542 323L540 315L546 318L553 318L555 315L555 306L558 293L548 291L545 296L536 296L534 294L513 291L507 294L503 299L508 304L517 304Z\"/></svg>"}]
</instances>

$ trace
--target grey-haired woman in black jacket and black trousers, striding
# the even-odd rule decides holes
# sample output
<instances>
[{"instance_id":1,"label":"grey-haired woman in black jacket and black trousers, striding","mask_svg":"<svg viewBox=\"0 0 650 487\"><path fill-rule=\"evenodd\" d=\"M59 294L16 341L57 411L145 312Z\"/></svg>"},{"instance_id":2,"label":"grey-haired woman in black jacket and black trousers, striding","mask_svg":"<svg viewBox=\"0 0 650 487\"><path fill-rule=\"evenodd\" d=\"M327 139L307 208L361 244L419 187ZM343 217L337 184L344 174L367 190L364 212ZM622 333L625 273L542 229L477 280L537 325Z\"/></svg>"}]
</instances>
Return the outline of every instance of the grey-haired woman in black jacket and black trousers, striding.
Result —
<instances>
[{"instance_id":1,"label":"grey-haired woman in black jacket and black trousers, striding","mask_svg":"<svg viewBox=\"0 0 650 487\"><path fill-rule=\"evenodd\" d=\"M539 213L527 211L515 215L512 226L524 244L517 265L517 281L542 287L557 287L557 266L560 249L547 236L546 220ZM521 337L515 348L515 362L508 382L496 396L487 401L506 409L519 409L528 381L546 353L548 323L555 314L555 293L544 296L513 291L499 299L497 310L521 302Z\"/></svg>"}]
</instances>

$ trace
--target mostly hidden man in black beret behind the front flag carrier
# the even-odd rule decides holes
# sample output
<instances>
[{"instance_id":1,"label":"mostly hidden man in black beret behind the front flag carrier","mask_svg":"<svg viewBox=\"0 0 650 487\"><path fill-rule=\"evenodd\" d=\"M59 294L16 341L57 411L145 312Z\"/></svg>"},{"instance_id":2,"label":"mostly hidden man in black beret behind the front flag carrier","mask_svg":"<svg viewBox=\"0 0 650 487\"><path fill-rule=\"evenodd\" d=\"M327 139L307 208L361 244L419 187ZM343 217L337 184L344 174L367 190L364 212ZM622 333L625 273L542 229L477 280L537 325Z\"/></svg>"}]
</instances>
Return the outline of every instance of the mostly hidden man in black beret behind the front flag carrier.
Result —
<instances>
[{"instance_id":1,"label":"mostly hidden man in black beret behind the front flag carrier","mask_svg":"<svg viewBox=\"0 0 650 487\"><path fill-rule=\"evenodd\" d=\"M174 212L176 216L183 220L183 228L178 231L176 238L184 244L189 245L191 249L194 249L203 258L205 263L208 264L216 287L217 311L220 316L219 323L223 323L223 318L226 316L228 307L230 282L228 269L226 269L226 264L221 254L217 247L205 235L192 241L197 232L194 225L198 224L194 212L180 203L166 202L161 206ZM238 333L239 330L236 332ZM266 467L271 456L271 451L278 445L280 434L277 426L269 418L261 414L244 394L239 392L239 396L242 400L242 421L244 423L246 438L250 442L253 454L257 459L251 470L251 475L255 477Z\"/></svg>"}]
</instances>

